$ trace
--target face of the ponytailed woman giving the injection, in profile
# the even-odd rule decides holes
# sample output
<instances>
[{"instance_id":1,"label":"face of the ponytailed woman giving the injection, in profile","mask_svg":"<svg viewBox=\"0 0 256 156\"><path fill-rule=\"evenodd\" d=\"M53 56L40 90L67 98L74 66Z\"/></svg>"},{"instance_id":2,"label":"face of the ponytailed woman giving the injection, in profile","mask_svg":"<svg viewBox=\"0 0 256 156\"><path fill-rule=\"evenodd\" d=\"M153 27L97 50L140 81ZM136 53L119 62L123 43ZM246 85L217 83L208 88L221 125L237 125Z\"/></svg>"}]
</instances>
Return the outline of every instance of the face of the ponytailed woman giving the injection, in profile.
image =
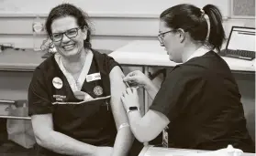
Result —
<instances>
[{"instance_id":1,"label":"face of the ponytailed woman giving the injection, in profile","mask_svg":"<svg viewBox=\"0 0 256 156\"><path fill-rule=\"evenodd\" d=\"M166 23L161 20L159 25L159 33L161 34L164 32L168 32L170 30L173 30L173 29L166 26ZM184 41L183 35L179 30L171 31L162 36L161 46L165 47L170 60L177 63L182 62L183 47L184 47L183 41Z\"/></svg>"}]
</instances>

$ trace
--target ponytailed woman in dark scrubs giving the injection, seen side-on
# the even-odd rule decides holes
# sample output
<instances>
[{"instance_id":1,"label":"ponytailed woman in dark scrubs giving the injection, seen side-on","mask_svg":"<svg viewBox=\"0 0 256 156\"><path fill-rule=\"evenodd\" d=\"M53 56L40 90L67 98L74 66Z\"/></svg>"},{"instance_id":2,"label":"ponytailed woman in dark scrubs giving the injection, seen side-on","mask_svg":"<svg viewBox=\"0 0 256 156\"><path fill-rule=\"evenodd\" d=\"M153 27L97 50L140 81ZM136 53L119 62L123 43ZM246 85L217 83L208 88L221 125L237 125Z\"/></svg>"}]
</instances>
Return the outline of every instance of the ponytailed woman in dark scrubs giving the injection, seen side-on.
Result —
<instances>
[{"instance_id":1,"label":"ponytailed woman in dark scrubs giving the injection, seen side-on","mask_svg":"<svg viewBox=\"0 0 256 156\"><path fill-rule=\"evenodd\" d=\"M175 5L162 12L160 19L161 46L170 60L182 64L168 73L159 90L140 71L124 78L143 86L153 99L141 117L137 90L127 88L123 93L135 137L164 147L211 151L231 144L254 152L236 80L225 60L213 51L219 51L225 38L217 7Z\"/></svg>"}]
</instances>

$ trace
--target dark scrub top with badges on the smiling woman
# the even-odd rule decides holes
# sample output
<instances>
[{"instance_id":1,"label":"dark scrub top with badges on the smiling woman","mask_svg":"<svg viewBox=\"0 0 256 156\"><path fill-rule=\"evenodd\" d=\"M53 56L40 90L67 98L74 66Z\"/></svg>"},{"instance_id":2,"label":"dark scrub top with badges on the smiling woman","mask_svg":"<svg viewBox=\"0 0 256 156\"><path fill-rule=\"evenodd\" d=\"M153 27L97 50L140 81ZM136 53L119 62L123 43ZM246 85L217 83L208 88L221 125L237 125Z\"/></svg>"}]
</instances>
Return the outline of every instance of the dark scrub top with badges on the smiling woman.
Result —
<instances>
[{"instance_id":1,"label":"dark scrub top with badges on the smiling woman","mask_svg":"<svg viewBox=\"0 0 256 156\"><path fill-rule=\"evenodd\" d=\"M82 91L93 98L109 96L111 94L109 73L118 64L106 54L96 51L93 51L93 54L88 75L99 72L101 79L90 82L84 80ZM61 78L62 88L54 87L53 78ZM114 146L117 129L109 99L81 104L56 104L56 102L81 101L83 100L74 97L72 88L54 56L49 57L36 68L28 89L29 115L52 113L54 130L95 146ZM52 104L54 102L55 104ZM45 155L59 155L42 147L38 148L39 152Z\"/></svg>"}]
</instances>

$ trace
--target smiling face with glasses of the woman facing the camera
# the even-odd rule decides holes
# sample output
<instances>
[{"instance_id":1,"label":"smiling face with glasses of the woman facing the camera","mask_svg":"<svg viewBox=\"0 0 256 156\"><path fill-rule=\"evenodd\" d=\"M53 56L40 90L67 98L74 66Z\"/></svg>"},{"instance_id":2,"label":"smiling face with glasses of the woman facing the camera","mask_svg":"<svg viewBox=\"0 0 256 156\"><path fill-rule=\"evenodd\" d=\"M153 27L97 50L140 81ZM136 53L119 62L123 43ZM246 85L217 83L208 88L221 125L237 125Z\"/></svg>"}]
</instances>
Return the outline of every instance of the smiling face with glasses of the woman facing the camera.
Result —
<instances>
[{"instance_id":1,"label":"smiling face with glasses of the woman facing the camera","mask_svg":"<svg viewBox=\"0 0 256 156\"><path fill-rule=\"evenodd\" d=\"M75 57L83 51L83 40L86 39L87 31L77 25L76 18L73 16L55 19L51 24L51 32L53 37L58 37L59 33L66 32L62 34L60 41L53 39L53 43L62 57Z\"/></svg>"}]
</instances>

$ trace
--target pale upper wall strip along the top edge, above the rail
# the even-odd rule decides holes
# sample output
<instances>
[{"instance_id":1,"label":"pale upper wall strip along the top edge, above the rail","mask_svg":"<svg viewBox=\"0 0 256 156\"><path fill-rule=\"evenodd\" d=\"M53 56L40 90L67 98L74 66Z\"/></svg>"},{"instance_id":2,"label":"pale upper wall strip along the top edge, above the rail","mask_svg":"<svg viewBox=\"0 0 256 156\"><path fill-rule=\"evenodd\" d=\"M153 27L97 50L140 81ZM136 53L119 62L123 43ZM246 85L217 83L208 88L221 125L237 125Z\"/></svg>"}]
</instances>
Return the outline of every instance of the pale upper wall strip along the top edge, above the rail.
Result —
<instances>
[{"instance_id":1,"label":"pale upper wall strip along the top edge, above the rail","mask_svg":"<svg viewBox=\"0 0 256 156\"><path fill-rule=\"evenodd\" d=\"M217 5L224 16L229 14L229 0L1 0L0 14L48 14L50 8L62 2L78 5L90 15L145 15L159 16L161 11L172 5L191 3L198 7Z\"/></svg>"}]
</instances>

